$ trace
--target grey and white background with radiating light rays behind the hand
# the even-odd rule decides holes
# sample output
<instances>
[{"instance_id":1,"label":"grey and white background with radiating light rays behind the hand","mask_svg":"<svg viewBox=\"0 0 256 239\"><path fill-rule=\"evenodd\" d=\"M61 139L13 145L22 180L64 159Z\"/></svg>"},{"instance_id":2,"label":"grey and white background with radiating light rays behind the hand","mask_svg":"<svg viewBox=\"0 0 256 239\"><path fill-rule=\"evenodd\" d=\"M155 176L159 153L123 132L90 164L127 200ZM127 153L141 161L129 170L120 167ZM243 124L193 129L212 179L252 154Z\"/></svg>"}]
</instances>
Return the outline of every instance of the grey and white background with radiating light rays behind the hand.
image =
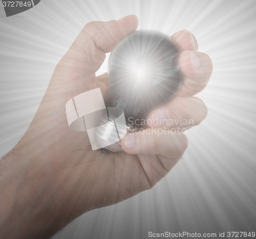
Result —
<instances>
[{"instance_id":1,"label":"grey and white background with radiating light rays behind the hand","mask_svg":"<svg viewBox=\"0 0 256 239\"><path fill-rule=\"evenodd\" d=\"M56 238L148 238L152 232L256 230L256 1L44 0L6 17L0 6L0 154L29 126L52 72L83 26L139 17L139 29L188 29L214 63L198 96L208 116L183 159L152 190L83 214ZM106 61L97 74L106 71Z\"/></svg>"}]
</instances>

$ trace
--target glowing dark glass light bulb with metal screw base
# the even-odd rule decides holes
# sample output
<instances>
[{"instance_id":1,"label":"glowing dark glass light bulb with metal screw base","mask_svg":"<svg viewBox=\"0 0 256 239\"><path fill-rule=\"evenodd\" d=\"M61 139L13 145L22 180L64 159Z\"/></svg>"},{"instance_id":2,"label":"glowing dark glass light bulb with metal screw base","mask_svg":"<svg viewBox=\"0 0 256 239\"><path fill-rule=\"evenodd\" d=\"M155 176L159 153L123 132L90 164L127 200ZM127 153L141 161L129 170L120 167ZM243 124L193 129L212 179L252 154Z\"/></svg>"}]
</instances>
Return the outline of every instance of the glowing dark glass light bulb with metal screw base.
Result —
<instances>
[{"instance_id":1,"label":"glowing dark glass light bulb with metal screw base","mask_svg":"<svg viewBox=\"0 0 256 239\"><path fill-rule=\"evenodd\" d=\"M109 112L108 120L112 116L117 118L120 109L124 113L127 126L119 125L118 134L122 135L125 129L133 132L131 125L138 126L138 122L146 119L154 108L166 103L178 92L183 81L178 65L179 54L175 41L158 31L135 31L116 45L109 58L109 90L105 105L119 109L117 115ZM102 119L102 124L108 120ZM123 132L120 132L122 128ZM116 125L102 127L96 135L99 141L108 141L116 129ZM103 148L105 153L109 150L122 150L119 136L116 143Z\"/></svg>"}]
</instances>

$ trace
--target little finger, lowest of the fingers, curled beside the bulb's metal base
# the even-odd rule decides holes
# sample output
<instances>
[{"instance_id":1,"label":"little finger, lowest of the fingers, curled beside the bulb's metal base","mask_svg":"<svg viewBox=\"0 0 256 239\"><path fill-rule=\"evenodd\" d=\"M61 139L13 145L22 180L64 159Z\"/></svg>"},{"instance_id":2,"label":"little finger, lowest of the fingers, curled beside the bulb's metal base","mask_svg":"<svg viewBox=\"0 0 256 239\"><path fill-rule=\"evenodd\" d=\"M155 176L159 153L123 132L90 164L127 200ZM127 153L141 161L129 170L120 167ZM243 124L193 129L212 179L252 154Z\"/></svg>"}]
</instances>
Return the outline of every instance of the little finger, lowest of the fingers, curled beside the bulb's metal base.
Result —
<instances>
[{"instance_id":1,"label":"little finger, lowest of the fingers, curled beside the bulb's metal base","mask_svg":"<svg viewBox=\"0 0 256 239\"><path fill-rule=\"evenodd\" d=\"M121 145L128 154L162 155L177 159L182 157L187 148L187 138L184 134L168 129L147 128L125 136Z\"/></svg>"}]
</instances>

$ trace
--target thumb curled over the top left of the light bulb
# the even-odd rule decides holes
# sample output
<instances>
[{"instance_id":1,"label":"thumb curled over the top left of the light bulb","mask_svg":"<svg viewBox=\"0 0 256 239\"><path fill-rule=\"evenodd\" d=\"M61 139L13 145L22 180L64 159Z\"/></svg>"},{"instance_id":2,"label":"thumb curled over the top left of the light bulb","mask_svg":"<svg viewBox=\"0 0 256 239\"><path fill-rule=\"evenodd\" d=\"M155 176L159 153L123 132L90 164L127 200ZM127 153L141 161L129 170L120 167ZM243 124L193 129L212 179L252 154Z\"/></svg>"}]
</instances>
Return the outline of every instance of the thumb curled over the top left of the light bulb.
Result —
<instances>
[{"instance_id":1,"label":"thumb curled over the top left of the light bulb","mask_svg":"<svg viewBox=\"0 0 256 239\"><path fill-rule=\"evenodd\" d=\"M119 20L88 23L60 63L72 70L73 75L69 77L94 75L103 63L105 53L110 52L122 38L135 31L137 26L138 18L135 15Z\"/></svg>"}]
</instances>

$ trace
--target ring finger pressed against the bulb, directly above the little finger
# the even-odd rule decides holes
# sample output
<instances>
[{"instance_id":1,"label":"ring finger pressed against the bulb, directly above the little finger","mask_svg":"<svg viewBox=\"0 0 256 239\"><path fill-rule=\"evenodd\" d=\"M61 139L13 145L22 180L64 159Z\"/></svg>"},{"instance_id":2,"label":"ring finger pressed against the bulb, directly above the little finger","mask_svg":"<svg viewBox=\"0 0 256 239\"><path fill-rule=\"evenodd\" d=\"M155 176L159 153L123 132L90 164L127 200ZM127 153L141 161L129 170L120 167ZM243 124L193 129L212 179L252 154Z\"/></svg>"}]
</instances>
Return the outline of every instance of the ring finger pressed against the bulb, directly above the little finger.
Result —
<instances>
[{"instance_id":1,"label":"ring finger pressed against the bulb, directly above the little finger","mask_svg":"<svg viewBox=\"0 0 256 239\"><path fill-rule=\"evenodd\" d=\"M205 103L197 97L177 97L151 112L147 124L151 128L188 129L207 116Z\"/></svg>"}]
</instances>

